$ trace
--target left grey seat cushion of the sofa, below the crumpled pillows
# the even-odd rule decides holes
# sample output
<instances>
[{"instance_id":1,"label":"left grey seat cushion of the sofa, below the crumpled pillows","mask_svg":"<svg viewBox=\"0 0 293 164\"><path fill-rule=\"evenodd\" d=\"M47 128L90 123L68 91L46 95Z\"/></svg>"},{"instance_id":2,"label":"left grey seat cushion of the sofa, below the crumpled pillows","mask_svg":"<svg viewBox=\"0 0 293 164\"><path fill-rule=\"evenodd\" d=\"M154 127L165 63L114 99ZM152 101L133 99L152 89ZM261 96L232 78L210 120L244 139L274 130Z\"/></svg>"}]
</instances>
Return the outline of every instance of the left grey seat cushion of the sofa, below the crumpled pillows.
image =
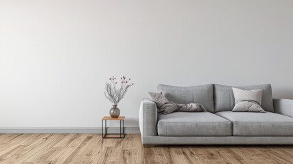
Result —
<instances>
[{"instance_id":1,"label":"left grey seat cushion of the sofa, below the crumpled pillows","mask_svg":"<svg viewBox=\"0 0 293 164\"><path fill-rule=\"evenodd\" d=\"M208 111L159 114L158 135L231 136L232 122Z\"/></svg>"}]
</instances>

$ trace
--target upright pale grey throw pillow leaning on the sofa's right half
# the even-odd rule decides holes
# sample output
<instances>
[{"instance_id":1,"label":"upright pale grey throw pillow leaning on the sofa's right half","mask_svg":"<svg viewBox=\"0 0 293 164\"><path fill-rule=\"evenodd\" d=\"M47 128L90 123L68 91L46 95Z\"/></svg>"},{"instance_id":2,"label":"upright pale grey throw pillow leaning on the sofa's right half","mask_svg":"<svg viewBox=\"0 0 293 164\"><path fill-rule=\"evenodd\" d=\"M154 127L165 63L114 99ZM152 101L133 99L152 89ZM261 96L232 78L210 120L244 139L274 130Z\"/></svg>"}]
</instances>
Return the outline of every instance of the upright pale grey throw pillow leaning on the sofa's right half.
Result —
<instances>
[{"instance_id":1,"label":"upright pale grey throw pillow leaning on the sofa's right half","mask_svg":"<svg viewBox=\"0 0 293 164\"><path fill-rule=\"evenodd\" d=\"M232 111L249 111L266 113L262 105L262 90L241 90L232 87L235 97L235 107Z\"/></svg>"}]
</instances>

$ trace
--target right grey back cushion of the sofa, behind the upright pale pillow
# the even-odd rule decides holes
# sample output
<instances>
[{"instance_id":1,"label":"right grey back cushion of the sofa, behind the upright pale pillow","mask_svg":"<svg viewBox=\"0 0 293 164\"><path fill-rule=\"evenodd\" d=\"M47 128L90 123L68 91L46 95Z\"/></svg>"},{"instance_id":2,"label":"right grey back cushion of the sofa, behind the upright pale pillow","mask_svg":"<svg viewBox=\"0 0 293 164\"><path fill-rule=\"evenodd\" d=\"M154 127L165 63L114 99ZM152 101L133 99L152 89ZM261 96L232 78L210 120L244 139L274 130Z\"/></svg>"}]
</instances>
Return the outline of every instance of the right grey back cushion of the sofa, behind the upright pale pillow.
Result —
<instances>
[{"instance_id":1,"label":"right grey back cushion of the sofa, behind the upright pale pillow","mask_svg":"<svg viewBox=\"0 0 293 164\"><path fill-rule=\"evenodd\" d=\"M232 87L214 84L214 111L232 111L235 106L235 98ZM259 90L262 89L262 109L274 112L272 87L270 84L253 85L245 87L236 87L242 90Z\"/></svg>"}]
</instances>

